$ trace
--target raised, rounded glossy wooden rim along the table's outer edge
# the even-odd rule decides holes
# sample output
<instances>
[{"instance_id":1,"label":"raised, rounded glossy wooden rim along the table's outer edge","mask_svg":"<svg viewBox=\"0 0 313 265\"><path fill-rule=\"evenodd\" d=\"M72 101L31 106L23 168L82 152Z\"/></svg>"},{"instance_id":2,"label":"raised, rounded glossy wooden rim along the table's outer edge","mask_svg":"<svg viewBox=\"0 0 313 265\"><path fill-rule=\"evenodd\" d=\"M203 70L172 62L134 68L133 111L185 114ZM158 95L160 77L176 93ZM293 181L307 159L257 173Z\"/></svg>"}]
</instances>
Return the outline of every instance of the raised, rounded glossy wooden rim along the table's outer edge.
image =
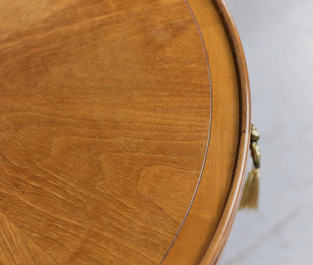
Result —
<instances>
[{"instance_id":1,"label":"raised, rounded glossy wooden rim along the table's outer edge","mask_svg":"<svg viewBox=\"0 0 313 265\"><path fill-rule=\"evenodd\" d=\"M237 28L233 18L224 0L212 0L220 13L224 23L225 31L228 34L231 47L233 47L233 57L237 63L239 74L239 96L241 103L241 128L239 138L239 152L236 163L236 169L233 176L233 182L228 194L228 198L218 223L218 227L214 232L213 238L207 248L201 262L199 264L216 264L218 258L223 251L224 245L228 238L233 221L236 216L244 178L248 163L249 143L250 143L250 125L251 125L251 100L248 70L244 57L244 51L241 45Z\"/></svg>"}]
</instances>

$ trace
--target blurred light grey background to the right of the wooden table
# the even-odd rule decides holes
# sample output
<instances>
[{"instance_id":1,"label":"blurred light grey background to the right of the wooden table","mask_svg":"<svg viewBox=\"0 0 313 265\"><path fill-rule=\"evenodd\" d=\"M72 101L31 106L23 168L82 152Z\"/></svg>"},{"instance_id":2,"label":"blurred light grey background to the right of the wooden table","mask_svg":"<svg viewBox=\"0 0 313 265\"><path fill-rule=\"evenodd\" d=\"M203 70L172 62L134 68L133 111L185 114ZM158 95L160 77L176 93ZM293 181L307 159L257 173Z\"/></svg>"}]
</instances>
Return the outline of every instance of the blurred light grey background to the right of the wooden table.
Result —
<instances>
[{"instance_id":1,"label":"blurred light grey background to the right of the wooden table","mask_svg":"<svg viewBox=\"0 0 313 265\"><path fill-rule=\"evenodd\" d=\"M262 158L259 210L238 212L220 264L313 264L313 1L226 2Z\"/></svg>"}]
</instances>

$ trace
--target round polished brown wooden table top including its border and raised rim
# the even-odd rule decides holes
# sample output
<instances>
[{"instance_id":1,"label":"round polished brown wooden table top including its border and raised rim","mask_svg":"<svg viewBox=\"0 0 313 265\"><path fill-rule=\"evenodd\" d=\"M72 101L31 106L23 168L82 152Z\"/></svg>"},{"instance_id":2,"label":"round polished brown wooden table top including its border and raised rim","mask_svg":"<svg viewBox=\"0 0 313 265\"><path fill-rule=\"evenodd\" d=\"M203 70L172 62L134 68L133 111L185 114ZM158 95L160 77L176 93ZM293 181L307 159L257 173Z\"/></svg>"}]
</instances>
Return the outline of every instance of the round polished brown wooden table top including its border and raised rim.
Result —
<instances>
[{"instance_id":1,"label":"round polished brown wooden table top including its border and raised rim","mask_svg":"<svg viewBox=\"0 0 313 265\"><path fill-rule=\"evenodd\" d=\"M0 263L213 264L250 137L223 1L0 10Z\"/></svg>"}]
</instances>

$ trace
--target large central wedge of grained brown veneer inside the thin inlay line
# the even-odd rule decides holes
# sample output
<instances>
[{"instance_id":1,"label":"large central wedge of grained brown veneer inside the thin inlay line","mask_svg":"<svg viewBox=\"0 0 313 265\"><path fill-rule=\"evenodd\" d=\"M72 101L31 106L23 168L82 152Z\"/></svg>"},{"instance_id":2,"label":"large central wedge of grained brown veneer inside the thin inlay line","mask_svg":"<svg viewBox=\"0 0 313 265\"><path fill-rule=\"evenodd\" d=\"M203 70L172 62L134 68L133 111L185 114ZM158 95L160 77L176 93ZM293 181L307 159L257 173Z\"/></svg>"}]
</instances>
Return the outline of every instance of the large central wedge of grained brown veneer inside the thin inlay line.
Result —
<instances>
[{"instance_id":1,"label":"large central wedge of grained brown veneer inside the thin inlay line","mask_svg":"<svg viewBox=\"0 0 313 265\"><path fill-rule=\"evenodd\" d=\"M0 43L1 213L42 260L160 263L191 203L210 122L186 4L79 1L43 15L38 2L19 3L6 17L29 8L36 22L17 20Z\"/></svg>"}]
</instances>

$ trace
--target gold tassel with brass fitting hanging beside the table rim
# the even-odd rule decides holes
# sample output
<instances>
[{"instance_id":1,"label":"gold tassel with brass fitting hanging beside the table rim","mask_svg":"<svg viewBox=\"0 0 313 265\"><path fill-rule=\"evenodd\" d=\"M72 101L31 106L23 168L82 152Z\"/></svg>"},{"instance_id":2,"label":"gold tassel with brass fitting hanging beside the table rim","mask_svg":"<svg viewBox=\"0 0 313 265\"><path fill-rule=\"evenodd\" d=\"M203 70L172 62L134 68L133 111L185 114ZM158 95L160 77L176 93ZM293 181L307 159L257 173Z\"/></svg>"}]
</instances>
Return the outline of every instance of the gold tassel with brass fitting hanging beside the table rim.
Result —
<instances>
[{"instance_id":1,"label":"gold tassel with brass fitting hanging beside the table rim","mask_svg":"<svg viewBox=\"0 0 313 265\"><path fill-rule=\"evenodd\" d=\"M244 183L244 189L242 192L241 201L239 204L239 210L243 208L258 209L259 198L259 177L260 177L260 148L257 144L259 140L259 132L256 130L253 124L251 124L251 141L250 149L251 156L253 158L254 168L249 171L248 178Z\"/></svg>"}]
</instances>

